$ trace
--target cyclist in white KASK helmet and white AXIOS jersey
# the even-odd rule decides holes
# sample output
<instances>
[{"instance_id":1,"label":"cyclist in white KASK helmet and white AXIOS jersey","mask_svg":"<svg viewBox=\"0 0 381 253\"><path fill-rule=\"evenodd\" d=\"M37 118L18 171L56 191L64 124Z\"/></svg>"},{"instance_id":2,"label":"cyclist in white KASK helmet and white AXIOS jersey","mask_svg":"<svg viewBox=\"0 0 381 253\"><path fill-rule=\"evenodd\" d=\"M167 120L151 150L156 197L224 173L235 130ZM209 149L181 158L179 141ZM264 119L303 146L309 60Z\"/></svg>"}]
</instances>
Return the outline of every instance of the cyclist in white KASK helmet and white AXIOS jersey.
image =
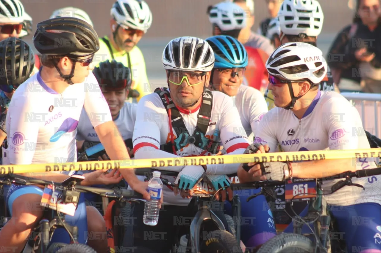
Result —
<instances>
[{"instance_id":1,"label":"cyclist in white KASK helmet and white AXIOS jersey","mask_svg":"<svg viewBox=\"0 0 381 253\"><path fill-rule=\"evenodd\" d=\"M270 73L268 88L274 94L277 107L267 112L258 126L254 144L266 144L260 147L260 152L273 152L278 144L286 152L370 148L359 112L352 104L339 93L318 89L317 85L327 73L327 62L320 49L300 42L283 44L267 60L267 70ZM364 134L355 134L355 129ZM249 149L257 151L255 146ZM268 162L244 164L238 174L241 182L249 182L330 177L375 167L373 158ZM262 176L264 172L270 173ZM344 186L329 194L336 182L337 179L323 182L322 189L323 194L327 194L328 205L334 206L331 213L338 232L343 233L347 249L360 248L360 253L381 252L381 177L352 179L365 190ZM372 218L370 222L354 225L353 220L358 217ZM285 231L292 231L291 226Z\"/></svg>"}]
</instances>

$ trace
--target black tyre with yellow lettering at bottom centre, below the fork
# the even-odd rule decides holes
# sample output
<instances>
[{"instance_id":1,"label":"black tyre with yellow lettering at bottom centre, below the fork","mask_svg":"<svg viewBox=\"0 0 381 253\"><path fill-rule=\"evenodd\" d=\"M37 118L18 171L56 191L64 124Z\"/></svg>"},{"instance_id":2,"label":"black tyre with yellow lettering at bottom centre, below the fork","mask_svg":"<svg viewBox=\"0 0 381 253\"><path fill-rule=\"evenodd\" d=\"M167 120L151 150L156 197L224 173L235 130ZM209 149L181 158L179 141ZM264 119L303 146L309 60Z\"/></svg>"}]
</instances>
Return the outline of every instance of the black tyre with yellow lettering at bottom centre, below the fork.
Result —
<instances>
[{"instance_id":1,"label":"black tyre with yellow lettering at bottom centre, below the fork","mask_svg":"<svg viewBox=\"0 0 381 253\"><path fill-rule=\"evenodd\" d=\"M242 253L242 249L231 233L215 230L201 242L201 253Z\"/></svg>"}]
</instances>

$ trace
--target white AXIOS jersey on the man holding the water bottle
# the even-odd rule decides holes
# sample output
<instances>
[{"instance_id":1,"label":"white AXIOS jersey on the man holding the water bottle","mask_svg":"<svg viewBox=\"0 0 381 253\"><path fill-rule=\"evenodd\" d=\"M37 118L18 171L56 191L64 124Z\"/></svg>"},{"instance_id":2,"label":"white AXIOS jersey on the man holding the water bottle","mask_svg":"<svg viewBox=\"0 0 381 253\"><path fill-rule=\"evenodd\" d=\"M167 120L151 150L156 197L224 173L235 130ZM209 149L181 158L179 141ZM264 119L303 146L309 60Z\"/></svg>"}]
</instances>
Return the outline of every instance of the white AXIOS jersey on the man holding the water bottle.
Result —
<instances>
[{"instance_id":1,"label":"white AXIOS jersey on the man holding the water bottle","mask_svg":"<svg viewBox=\"0 0 381 253\"><path fill-rule=\"evenodd\" d=\"M61 94L46 86L40 73L30 77L14 92L6 115L8 162L77 161L75 134L83 107L93 126L112 120L93 73Z\"/></svg>"}]
</instances>

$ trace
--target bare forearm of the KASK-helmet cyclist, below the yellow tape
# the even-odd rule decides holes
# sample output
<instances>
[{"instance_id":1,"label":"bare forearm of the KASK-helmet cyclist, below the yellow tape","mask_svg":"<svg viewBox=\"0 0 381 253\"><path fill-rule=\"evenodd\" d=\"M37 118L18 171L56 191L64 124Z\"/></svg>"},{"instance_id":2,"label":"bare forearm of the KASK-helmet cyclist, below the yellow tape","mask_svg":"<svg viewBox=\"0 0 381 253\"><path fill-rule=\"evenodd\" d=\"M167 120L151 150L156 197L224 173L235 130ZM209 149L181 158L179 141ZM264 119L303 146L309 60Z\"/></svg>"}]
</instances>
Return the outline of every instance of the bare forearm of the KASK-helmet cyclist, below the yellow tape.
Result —
<instances>
[{"instance_id":1,"label":"bare forearm of the KASK-helmet cyclist, below the yellow tape","mask_svg":"<svg viewBox=\"0 0 381 253\"><path fill-rule=\"evenodd\" d=\"M345 171L356 171L353 159L315 160L292 163L292 176L298 178L330 177Z\"/></svg>"}]
</instances>

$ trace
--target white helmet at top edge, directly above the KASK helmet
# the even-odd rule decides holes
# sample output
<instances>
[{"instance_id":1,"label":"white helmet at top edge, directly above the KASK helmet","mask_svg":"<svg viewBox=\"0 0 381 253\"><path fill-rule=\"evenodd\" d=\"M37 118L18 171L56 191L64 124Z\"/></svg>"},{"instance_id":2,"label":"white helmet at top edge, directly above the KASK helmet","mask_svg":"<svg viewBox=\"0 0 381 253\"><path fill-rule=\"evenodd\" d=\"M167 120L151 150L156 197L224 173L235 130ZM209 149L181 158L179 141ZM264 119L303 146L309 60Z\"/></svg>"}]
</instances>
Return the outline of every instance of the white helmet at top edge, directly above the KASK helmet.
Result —
<instances>
[{"instance_id":1,"label":"white helmet at top edge, directly above the KASK helmet","mask_svg":"<svg viewBox=\"0 0 381 253\"><path fill-rule=\"evenodd\" d=\"M316 0L284 0L278 12L280 30L286 35L318 36L323 27L323 10Z\"/></svg>"}]
</instances>

